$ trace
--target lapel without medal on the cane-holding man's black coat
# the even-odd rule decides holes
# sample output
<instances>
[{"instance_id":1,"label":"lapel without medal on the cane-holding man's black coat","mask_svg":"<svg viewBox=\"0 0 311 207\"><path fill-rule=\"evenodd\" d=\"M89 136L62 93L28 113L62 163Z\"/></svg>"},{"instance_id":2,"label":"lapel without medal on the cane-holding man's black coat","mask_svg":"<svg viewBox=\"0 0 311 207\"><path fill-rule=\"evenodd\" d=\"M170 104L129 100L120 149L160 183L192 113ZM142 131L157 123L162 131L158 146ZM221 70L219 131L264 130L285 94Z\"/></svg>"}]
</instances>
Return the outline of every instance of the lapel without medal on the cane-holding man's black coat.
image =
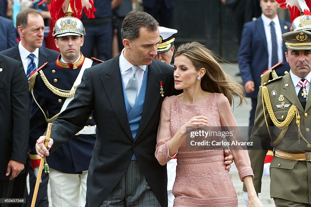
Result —
<instances>
[{"instance_id":1,"label":"lapel without medal on the cane-holding man's black coat","mask_svg":"<svg viewBox=\"0 0 311 207\"><path fill-rule=\"evenodd\" d=\"M120 125L123 127L128 137L133 140L124 104L123 88L121 82L122 80L119 67L119 56L120 55L112 59L111 64L106 66L105 72L100 73L100 79L107 93L111 107L113 108L114 113L120 122Z\"/></svg>"}]
</instances>

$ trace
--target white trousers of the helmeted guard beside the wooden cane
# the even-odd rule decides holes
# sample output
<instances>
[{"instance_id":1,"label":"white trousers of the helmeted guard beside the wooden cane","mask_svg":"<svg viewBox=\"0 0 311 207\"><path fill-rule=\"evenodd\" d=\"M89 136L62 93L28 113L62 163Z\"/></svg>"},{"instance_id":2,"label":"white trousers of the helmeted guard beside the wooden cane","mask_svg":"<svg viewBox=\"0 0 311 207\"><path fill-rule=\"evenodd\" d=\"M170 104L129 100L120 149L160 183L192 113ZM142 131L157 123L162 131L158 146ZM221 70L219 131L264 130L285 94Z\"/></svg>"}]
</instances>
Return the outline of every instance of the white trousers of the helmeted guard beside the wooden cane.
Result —
<instances>
[{"instance_id":1,"label":"white trousers of the helmeted guard beside the wooden cane","mask_svg":"<svg viewBox=\"0 0 311 207\"><path fill-rule=\"evenodd\" d=\"M85 206L87 173L87 170L83 171L82 174L62 173L50 168L52 206Z\"/></svg>"}]
</instances>

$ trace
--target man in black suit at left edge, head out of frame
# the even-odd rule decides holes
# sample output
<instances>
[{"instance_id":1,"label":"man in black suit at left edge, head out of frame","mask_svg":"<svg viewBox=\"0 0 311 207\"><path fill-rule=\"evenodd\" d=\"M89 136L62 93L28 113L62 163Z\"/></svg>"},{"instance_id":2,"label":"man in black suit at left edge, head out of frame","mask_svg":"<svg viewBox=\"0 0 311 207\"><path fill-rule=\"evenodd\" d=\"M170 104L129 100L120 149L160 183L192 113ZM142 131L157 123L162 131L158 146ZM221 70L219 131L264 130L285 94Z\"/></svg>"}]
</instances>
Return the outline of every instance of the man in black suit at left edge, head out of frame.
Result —
<instances>
[{"instance_id":1,"label":"man in black suit at left edge, head out of frame","mask_svg":"<svg viewBox=\"0 0 311 207\"><path fill-rule=\"evenodd\" d=\"M21 62L1 54L0 100L0 196L10 198L14 178L26 165L29 94Z\"/></svg>"}]
</instances>

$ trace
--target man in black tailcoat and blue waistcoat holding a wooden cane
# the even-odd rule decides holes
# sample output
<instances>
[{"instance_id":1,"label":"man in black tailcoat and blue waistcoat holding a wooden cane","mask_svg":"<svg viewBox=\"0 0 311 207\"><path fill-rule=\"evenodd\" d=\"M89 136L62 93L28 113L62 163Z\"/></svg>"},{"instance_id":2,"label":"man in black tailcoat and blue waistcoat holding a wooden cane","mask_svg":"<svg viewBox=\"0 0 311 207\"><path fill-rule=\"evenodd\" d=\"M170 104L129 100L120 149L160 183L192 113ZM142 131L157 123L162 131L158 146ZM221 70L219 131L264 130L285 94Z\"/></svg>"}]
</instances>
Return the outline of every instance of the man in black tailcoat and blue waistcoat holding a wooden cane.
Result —
<instances>
[{"instance_id":1,"label":"man in black tailcoat and blue waistcoat holding a wooden cane","mask_svg":"<svg viewBox=\"0 0 311 207\"><path fill-rule=\"evenodd\" d=\"M160 35L146 12L129 12L122 36L123 51L84 72L75 98L53 122L51 152L80 131L94 109L86 206L167 206L166 166L157 162L155 146L161 104L174 88L173 69L153 60ZM43 137L36 144L40 156L49 155L46 148L39 151Z\"/></svg>"}]
</instances>

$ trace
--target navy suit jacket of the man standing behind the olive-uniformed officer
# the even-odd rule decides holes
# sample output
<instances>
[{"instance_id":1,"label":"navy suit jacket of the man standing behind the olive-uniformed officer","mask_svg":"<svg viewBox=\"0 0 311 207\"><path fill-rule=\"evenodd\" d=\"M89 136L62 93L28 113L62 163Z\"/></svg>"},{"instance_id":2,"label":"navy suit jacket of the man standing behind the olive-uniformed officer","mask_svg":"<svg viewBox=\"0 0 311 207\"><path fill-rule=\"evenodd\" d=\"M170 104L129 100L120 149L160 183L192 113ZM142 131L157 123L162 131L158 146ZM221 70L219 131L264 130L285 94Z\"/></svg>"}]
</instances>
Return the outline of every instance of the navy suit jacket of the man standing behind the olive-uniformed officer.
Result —
<instances>
[{"instance_id":1,"label":"navy suit jacket of the man standing behind the olive-uniformed officer","mask_svg":"<svg viewBox=\"0 0 311 207\"><path fill-rule=\"evenodd\" d=\"M282 34L289 32L290 23L280 19ZM287 29L285 29L287 28ZM289 64L285 58L285 40L283 40L283 64L276 68L278 76L284 76L285 71L290 70ZM256 21L247 22L244 24L241 44L238 54L238 62L240 74L243 79L243 85L247 81L255 82L255 91L246 93L247 97L257 99L259 86L261 85L260 75L268 69L268 49L266 33L263 26L262 18L259 17Z\"/></svg>"}]
</instances>

